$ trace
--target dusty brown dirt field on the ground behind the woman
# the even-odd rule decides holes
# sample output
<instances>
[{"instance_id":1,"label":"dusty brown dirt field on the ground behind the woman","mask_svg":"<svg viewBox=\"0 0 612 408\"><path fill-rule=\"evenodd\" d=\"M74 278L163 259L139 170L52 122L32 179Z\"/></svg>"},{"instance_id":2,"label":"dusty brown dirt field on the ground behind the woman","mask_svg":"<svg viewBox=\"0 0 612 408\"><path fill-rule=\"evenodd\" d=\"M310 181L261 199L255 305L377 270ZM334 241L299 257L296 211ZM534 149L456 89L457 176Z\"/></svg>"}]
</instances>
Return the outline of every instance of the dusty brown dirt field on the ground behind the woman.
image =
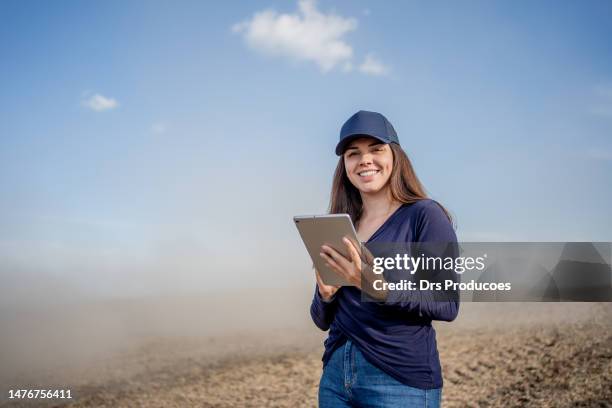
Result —
<instances>
[{"instance_id":1,"label":"dusty brown dirt field on the ground behind the woman","mask_svg":"<svg viewBox=\"0 0 612 408\"><path fill-rule=\"evenodd\" d=\"M437 330L445 407L612 406L612 304L465 304ZM148 338L45 384L72 387L69 407L313 407L323 338Z\"/></svg>"}]
</instances>

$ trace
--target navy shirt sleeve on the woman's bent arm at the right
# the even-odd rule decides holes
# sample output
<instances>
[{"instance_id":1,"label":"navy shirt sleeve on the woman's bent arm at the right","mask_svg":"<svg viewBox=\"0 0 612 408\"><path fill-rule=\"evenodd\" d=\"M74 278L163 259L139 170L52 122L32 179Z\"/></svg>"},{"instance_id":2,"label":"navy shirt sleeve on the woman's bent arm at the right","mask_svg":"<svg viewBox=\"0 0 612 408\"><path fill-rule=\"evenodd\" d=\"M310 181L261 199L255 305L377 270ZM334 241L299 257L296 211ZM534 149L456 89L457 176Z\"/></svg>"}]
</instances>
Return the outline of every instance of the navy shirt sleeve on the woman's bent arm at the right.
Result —
<instances>
[{"instance_id":1,"label":"navy shirt sleeve on the woman's bent arm at the right","mask_svg":"<svg viewBox=\"0 0 612 408\"><path fill-rule=\"evenodd\" d=\"M441 253L431 255L458 256L457 236L442 207L433 200L427 200L421 205L422 209L419 211L415 224L415 241L443 244L424 245L432 251L435 251L433 248L442 248ZM435 281L443 282L444 274L448 274L449 279L458 279L457 274L452 271L427 271L427 273L438 274L437 277L429 275ZM459 294L456 291L445 290L390 291L384 304L398 307L409 313L417 313L420 317L450 322L459 313Z\"/></svg>"}]
</instances>

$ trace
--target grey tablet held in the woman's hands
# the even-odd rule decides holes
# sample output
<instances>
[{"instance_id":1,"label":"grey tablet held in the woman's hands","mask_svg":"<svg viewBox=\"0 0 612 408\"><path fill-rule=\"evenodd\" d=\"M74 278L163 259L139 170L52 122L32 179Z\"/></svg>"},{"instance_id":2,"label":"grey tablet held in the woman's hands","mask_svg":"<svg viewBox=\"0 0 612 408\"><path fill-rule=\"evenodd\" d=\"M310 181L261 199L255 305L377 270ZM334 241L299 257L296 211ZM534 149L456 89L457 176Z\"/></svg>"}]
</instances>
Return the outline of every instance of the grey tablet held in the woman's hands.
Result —
<instances>
[{"instance_id":1,"label":"grey tablet held in the woman's hands","mask_svg":"<svg viewBox=\"0 0 612 408\"><path fill-rule=\"evenodd\" d=\"M359 248L359 239L348 214L303 215L293 217L306 250L319 271L323 283L336 286L353 286L342 279L333 269L325 265L321 258L321 246L327 244L350 259L342 238L347 236Z\"/></svg>"}]
</instances>

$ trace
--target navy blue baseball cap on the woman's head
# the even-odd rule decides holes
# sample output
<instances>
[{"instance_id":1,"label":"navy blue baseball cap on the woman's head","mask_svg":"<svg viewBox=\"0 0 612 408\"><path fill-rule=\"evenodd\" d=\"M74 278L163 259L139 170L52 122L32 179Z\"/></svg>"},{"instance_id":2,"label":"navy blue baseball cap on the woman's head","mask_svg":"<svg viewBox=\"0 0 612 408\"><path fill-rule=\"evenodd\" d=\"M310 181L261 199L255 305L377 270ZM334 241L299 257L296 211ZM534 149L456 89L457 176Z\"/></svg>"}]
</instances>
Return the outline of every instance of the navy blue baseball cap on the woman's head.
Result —
<instances>
[{"instance_id":1,"label":"navy blue baseball cap on the woman's head","mask_svg":"<svg viewBox=\"0 0 612 408\"><path fill-rule=\"evenodd\" d=\"M340 141L336 145L336 154L341 156L344 149L353 139L370 136L383 143L397 143L397 133L391 122L378 112L359 111L351 116L340 129Z\"/></svg>"}]
</instances>

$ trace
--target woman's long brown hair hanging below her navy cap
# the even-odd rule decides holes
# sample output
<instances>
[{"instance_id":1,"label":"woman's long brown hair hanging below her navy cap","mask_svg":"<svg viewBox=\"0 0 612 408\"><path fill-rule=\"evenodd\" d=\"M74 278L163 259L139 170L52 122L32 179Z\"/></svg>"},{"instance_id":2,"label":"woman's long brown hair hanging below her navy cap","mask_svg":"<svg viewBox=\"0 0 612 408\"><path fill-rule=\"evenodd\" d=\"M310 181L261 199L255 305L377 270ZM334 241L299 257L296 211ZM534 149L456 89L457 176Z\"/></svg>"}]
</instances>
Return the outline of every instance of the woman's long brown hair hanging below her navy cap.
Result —
<instances>
[{"instance_id":1,"label":"woman's long brown hair hanging below her navy cap","mask_svg":"<svg viewBox=\"0 0 612 408\"><path fill-rule=\"evenodd\" d=\"M389 178L389 188L391 197L402 204L412 204L427 197L425 188L417 177L410 159L400 145L389 143L393 153L393 168ZM453 219L450 213L440 203L436 203L442 208L451 223ZM344 166L344 156L340 156L334 179L332 182L331 197L329 200L330 214L349 214L353 223L357 223L361 218L363 202L359 190L351 183L346 175Z\"/></svg>"}]
</instances>

